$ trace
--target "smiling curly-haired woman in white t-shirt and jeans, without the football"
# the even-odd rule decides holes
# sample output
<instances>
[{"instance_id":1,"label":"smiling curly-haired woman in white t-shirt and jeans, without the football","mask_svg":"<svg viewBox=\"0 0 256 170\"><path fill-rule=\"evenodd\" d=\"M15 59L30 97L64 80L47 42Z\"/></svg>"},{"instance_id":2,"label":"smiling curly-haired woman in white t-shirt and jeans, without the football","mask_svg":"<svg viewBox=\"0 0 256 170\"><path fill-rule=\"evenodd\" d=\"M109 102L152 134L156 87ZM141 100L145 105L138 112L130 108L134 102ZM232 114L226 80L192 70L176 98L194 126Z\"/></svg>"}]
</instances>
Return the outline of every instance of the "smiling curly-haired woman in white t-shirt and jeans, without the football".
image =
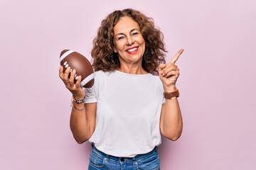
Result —
<instances>
[{"instance_id":1,"label":"smiling curly-haired woman in white t-shirt and jeans, without the football","mask_svg":"<svg viewBox=\"0 0 256 170\"><path fill-rule=\"evenodd\" d=\"M81 77L74 84L75 70L59 72L73 94L75 140L92 142L89 169L160 169L161 135L177 140L182 131L175 62L183 50L165 64L161 31L131 8L110 13L93 45L92 88L83 90Z\"/></svg>"}]
</instances>

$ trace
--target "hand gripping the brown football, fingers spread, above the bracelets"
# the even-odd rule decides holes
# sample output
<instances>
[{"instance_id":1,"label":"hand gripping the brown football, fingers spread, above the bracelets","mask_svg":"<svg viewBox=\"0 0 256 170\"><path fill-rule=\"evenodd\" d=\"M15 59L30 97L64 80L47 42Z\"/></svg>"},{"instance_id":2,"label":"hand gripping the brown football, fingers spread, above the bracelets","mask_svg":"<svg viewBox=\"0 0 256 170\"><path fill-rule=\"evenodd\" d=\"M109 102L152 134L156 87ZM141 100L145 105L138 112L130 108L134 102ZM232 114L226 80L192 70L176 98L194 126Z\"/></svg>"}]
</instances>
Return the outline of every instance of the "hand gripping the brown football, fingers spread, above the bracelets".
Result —
<instances>
[{"instance_id":1,"label":"hand gripping the brown football, fingers spread, above the bracelets","mask_svg":"<svg viewBox=\"0 0 256 170\"><path fill-rule=\"evenodd\" d=\"M75 98L76 100L83 99L85 97L85 91L80 86L82 77L79 76L76 83L74 83L76 70L73 69L73 72L71 73L70 78L68 78L68 75L70 74L70 70L71 68L68 67L67 69L65 69L65 72L63 73L63 66L60 66L59 77L60 79L62 79L66 88L73 94L73 98Z\"/></svg>"}]
</instances>

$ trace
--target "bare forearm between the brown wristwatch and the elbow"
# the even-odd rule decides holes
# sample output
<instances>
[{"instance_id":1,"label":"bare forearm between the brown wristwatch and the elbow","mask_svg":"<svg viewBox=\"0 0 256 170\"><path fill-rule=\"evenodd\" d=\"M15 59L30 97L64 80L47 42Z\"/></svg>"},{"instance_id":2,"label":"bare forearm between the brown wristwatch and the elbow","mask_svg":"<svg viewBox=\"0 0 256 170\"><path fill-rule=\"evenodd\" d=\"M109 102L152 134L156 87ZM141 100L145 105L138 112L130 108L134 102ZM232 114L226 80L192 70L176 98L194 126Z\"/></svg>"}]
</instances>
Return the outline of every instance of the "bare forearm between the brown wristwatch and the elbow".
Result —
<instances>
[{"instance_id":1,"label":"bare forearm between the brown wristwatch and the elbow","mask_svg":"<svg viewBox=\"0 0 256 170\"><path fill-rule=\"evenodd\" d=\"M178 99L166 99L161 113L161 133L170 140L178 140L183 128Z\"/></svg>"}]
</instances>

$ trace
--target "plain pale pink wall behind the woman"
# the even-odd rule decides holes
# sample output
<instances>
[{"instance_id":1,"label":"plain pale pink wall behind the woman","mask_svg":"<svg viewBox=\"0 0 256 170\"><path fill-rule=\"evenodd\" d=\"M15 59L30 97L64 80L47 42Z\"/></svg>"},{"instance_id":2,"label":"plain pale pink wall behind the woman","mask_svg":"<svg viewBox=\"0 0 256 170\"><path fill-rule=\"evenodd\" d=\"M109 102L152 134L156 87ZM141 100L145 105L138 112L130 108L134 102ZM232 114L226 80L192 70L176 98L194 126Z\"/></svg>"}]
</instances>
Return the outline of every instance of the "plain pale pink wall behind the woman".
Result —
<instances>
[{"instance_id":1,"label":"plain pale pink wall behind the woman","mask_svg":"<svg viewBox=\"0 0 256 170\"><path fill-rule=\"evenodd\" d=\"M59 54L90 59L108 13L154 18L169 50L185 49L177 86L183 135L163 139L161 169L256 169L256 1L0 1L0 169L87 169L89 142L70 132Z\"/></svg>"}]
</instances>

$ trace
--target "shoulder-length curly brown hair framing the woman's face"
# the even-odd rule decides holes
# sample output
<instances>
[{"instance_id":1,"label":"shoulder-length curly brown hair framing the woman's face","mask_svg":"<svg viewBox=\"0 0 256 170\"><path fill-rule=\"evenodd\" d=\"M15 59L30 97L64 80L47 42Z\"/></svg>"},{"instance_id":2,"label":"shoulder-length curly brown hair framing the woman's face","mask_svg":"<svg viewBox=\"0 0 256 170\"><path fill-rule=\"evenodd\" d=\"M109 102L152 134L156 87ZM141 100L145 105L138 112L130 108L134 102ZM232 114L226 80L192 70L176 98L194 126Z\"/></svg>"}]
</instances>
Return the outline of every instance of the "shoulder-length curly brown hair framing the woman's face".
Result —
<instances>
[{"instance_id":1,"label":"shoulder-length curly brown hair framing the woman's face","mask_svg":"<svg viewBox=\"0 0 256 170\"><path fill-rule=\"evenodd\" d=\"M165 63L164 35L154 26L154 20L143 13L127 8L110 13L101 23L97 36L93 40L92 67L95 71L112 72L120 67L117 52L114 52L114 26L120 18L129 16L139 24L145 41L142 68L151 74L158 74L159 64Z\"/></svg>"}]
</instances>

